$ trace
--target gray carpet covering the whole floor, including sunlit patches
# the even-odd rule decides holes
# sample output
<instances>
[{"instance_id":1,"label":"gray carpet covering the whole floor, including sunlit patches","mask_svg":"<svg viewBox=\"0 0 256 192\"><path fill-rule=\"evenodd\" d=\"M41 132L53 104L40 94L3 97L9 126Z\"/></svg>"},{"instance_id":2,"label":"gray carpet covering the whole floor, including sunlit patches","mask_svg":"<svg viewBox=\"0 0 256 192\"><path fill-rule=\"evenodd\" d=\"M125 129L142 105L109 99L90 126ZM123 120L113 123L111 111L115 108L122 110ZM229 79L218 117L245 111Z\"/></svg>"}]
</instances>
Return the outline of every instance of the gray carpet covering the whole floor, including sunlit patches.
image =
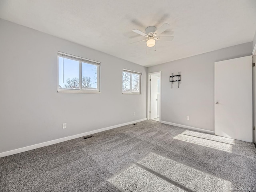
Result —
<instances>
[{"instance_id":1,"label":"gray carpet covering the whole floor, including sunlit patches","mask_svg":"<svg viewBox=\"0 0 256 192\"><path fill-rule=\"evenodd\" d=\"M238 190L256 191L254 144L152 120L0 158L1 192Z\"/></svg>"}]
</instances>

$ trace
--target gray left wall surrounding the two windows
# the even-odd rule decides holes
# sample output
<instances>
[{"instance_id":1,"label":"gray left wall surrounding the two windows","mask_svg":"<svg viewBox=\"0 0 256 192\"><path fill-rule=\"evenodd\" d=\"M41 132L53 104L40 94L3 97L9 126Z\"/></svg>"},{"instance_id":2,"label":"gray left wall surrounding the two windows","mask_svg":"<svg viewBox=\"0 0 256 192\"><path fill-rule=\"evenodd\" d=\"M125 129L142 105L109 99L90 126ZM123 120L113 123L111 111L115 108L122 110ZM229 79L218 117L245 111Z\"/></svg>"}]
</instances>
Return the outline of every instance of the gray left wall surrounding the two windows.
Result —
<instances>
[{"instance_id":1,"label":"gray left wall surrounding the two windows","mask_svg":"<svg viewBox=\"0 0 256 192\"><path fill-rule=\"evenodd\" d=\"M147 68L6 20L0 42L0 152L146 118ZM57 93L57 51L100 61L101 94ZM122 68L142 94L122 94Z\"/></svg>"}]
</instances>

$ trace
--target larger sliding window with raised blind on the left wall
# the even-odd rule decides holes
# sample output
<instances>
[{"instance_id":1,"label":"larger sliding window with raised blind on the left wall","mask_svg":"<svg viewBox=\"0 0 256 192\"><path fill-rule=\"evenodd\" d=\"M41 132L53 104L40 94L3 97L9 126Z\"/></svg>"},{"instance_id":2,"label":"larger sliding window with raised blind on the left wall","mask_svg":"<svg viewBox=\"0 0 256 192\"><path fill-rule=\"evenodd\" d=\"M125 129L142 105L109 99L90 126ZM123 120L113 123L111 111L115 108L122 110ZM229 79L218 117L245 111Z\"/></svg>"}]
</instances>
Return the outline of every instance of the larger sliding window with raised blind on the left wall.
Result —
<instances>
[{"instance_id":1,"label":"larger sliding window with raised blind on the left wall","mask_svg":"<svg viewBox=\"0 0 256 192\"><path fill-rule=\"evenodd\" d=\"M58 52L58 92L100 92L100 62Z\"/></svg>"}]
</instances>

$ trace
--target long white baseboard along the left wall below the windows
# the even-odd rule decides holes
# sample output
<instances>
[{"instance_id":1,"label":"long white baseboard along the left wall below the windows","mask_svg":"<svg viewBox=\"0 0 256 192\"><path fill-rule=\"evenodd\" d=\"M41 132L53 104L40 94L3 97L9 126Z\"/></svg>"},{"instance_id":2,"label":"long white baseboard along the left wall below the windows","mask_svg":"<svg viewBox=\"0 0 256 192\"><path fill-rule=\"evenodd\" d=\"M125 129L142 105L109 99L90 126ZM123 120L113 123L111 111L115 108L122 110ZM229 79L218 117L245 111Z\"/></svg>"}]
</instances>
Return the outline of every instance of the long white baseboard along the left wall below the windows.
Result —
<instances>
[{"instance_id":1,"label":"long white baseboard along the left wall below the windows","mask_svg":"<svg viewBox=\"0 0 256 192\"><path fill-rule=\"evenodd\" d=\"M110 126L110 127L106 127L106 128L101 128L101 129L97 129L97 130L94 130L94 131L89 131L89 132L85 132L85 133L81 133L81 134L77 134L77 135L72 135L72 136L69 136L69 137L55 139L55 140L51 140L51 141L47 141L47 142L43 142L43 143L38 143L38 144L34 144L34 145L30 145L30 146L26 146L26 147L22 147L22 148L18 148L18 149L6 151L6 152L2 152L2 153L0 153L0 158L5 157L5 156L9 156L9 155L13 155L13 154L17 154L17 153L21 153L21 152L25 152L25 151L29 151L29 150L33 150L33 149L36 149L36 148L45 147L45 146L48 146L48 145L68 141L68 140L79 138L79 137L82 137L82 136L87 136L87 135L90 135L90 134L94 134L94 133L98 133L98 132L102 132L102 131L122 127L122 126L125 126L125 125L130 125L130 124L145 121L145 120L147 120L147 118L136 120L136 121L131 121L131 122L127 122L127 123L123 123L123 124L119 124L119 125L114 125L114 126Z\"/></svg>"}]
</instances>

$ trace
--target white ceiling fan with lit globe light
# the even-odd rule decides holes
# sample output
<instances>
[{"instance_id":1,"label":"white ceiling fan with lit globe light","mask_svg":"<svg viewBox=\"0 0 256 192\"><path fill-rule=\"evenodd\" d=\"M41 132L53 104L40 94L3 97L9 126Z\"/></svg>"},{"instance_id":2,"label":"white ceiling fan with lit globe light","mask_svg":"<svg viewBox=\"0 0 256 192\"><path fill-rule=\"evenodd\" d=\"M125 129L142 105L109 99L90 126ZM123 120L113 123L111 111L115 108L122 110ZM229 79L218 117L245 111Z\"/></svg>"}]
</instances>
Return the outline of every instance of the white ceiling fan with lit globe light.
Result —
<instances>
[{"instance_id":1,"label":"white ceiling fan with lit globe light","mask_svg":"<svg viewBox=\"0 0 256 192\"><path fill-rule=\"evenodd\" d=\"M160 28L156 29L155 26L149 26L146 28L145 32L142 32L138 29L134 29L132 30L133 32L142 35L144 37L146 37L146 39L144 40L140 40L137 42L141 42L141 41L147 41L147 46L148 47L153 47L155 46L156 40L158 41L171 41L173 40L173 36L159 36L162 32L164 32L166 29L170 28L170 25L168 23L164 23L162 24L162 26L160 26ZM134 42L136 43L136 42Z\"/></svg>"}]
</instances>

